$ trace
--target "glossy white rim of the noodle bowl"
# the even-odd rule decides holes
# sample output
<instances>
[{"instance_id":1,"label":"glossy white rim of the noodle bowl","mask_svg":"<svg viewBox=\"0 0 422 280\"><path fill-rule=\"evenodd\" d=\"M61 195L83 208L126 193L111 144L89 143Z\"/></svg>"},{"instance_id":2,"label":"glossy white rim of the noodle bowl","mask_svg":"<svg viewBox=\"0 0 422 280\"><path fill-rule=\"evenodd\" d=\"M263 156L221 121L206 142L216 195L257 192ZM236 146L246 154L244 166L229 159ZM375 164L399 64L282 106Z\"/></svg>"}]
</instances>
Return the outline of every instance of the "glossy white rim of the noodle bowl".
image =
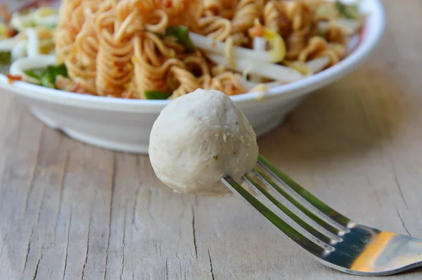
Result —
<instances>
[{"instance_id":1,"label":"glossy white rim of the noodle bowl","mask_svg":"<svg viewBox=\"0 0 422 280\"><path fill-rule=\"evenodd\" d=\"M361 5L369 8L369 15L366 18L361 34L361 42L349 56L343 59L343 61L333 65L331 68L306 77L305 79L301 79L297 82L271 87L264 94L262 92L239 94L236 96L230 96L232 100L238 105L241 105L243 103L255 103L262 100L262 98L276 98L289 95L289 93L295 94L303 89L313 90L317 87L324 87L330 82L333 82L335 79L343 77L348 72L351 72L357 67L357 65L362 63L369 56L373 49L375 49L385 29L385 14L381 0L364 0L361 1ZM46 58L46 61L51 60L52 58L52 56L44 57ZM21 58L16 62L19 61L21 63L30 63L31 61L34 61L34 58ZM15 74L12 69L11 74ZM0 75L0 88L8 89L9 91L15 92L15 94L26 96L28 98L48 101L49 103L60 103L63 105L82 108L98 108L102 110L135 112L140 111L141 108L148 110L162 110L162 108L171 102L169 100L124 99L92 96L88 94L75 94L68 91L49 89L36 84L20 81L15 81L10 84L5 75Z\"/></svg>"}]
</instances>

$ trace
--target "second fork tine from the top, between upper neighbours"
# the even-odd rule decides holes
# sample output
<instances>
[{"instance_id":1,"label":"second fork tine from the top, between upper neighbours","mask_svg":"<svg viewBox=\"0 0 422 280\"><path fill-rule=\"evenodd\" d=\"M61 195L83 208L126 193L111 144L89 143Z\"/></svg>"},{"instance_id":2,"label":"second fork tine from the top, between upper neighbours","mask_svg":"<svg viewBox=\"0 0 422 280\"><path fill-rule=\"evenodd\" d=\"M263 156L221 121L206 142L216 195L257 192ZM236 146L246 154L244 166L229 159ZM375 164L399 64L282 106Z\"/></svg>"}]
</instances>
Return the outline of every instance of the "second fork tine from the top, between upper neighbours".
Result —
<instances>
[{"instance_id":1,"label":"second fork tine from the top, between upper neighbours","mask_svg":"<svg viewBox=\"0 0 422 280\"><path fill-rule=\"evenodd\" d=\"M298 203L298 201L296 201L295 198L293 198L288 193L286 193L286 191L283 191L283 189L281 189L276 183L274 183L260 169L258 169L257 167L255 167L252 170L252 174L255 174L255 176L257 176L257 178L260 179L262 183L264 183L266 186L268 186L269 189L274 189L275 190L275 195L278 198L278 200L276 198L274 198L274 196L272 196L272 198L274 198L274 201L272 201L271 198L269 198L272 203L274 203L274 204L282 204L285 208L288 208L288 206L290 206L290 209L288 209L290 212L295 211L295 210L296 211L299 210L299 213L301 212L302 217L298 217L298 212L295 212L293 215L295 215L296 217L298 217L298 219L305 219L305 223L307 224L308 227L310 227L314 231L316 230L317 232L319 232L319 234L324 234L325 236L331 238L331 240L334 240L334 241L342 241L342 238L340 238L339 236L337 236L337 234L339 232L338 229L336 229L335 227L331 226L331 224L328 224L323 219L320 219L318 216L314 215L314 213L312 213L311 211L309 211L305 206L303 206L302 204ZM246 178L249 178L248 175L245 176L245 177ZM262 186L260 186L260 188L262 188ZM259 189L259 191L261 191L261 189ZM264 192L262 192L262 194L264 196L267 196L267 194L265 192L269 194L269 192L264 189ZM310 221L307 221L309 219L310 219ZM312 232L309 229L307 229L307 230L309 232Z\"/></svg>"}]
</instances>

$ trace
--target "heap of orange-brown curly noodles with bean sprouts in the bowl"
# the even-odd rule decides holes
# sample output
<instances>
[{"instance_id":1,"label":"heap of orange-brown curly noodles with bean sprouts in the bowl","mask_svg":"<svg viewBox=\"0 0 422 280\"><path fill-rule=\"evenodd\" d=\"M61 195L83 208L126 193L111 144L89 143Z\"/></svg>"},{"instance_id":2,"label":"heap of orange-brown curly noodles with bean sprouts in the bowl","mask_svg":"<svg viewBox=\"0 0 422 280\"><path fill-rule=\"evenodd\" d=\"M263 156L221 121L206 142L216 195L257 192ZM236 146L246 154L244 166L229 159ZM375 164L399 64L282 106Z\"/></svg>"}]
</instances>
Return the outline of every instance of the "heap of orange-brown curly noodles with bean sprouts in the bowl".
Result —
<instances>
[{"instance_id":1,"label":"heap of orange-brown curly noodles with bean sprouts in the bowl","mask_svg":"<svg viewBox=\"0 0 422 280\"><path fill-rule=\"evenodd\" d=\"M347 56L358 12L322 0L63 0L56 62L67 75L54 76L53 87L173 99L294 82Z\"/></svg>"}]
</instances>

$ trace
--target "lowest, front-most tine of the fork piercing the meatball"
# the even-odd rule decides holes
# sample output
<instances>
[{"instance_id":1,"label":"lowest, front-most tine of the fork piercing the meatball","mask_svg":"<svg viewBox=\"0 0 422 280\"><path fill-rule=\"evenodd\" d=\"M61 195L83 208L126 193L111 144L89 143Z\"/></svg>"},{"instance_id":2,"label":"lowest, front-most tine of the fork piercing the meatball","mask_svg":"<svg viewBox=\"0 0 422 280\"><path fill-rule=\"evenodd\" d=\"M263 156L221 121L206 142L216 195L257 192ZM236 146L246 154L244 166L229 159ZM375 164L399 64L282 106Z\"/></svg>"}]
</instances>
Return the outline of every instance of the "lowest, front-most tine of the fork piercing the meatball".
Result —
<instances>
[{"instance_id":1,"label":"lowest, front-most tine of the fork piercing the meatball","mask_svg":"<svg viewBox=\"0 0 422 280\"><path fill-rule=\"evenodd\" d=\"M303 232L298 231L295 227L301 229L297 223L293 221L290 217L285 215L283 219L281 219L278 215L274 214L267 206L261 203L257 198L252 196L248 191L243 189L243 186L238 184L234 179L231 177L224 177L222 179L222 183L226 185L231 191L240 194L245 201L250 203L250 205L255 208L258 212L260 212L264 217L266 217L269 222L274 224L277 228L283 231L290 239L298 243L300 246L308 250L309 252L315 254L321 254L322 252L332 252L334 248L332 246L327 245L326 243L320 241L318 238L309 234L305 229L302 229ZM286 222L287 221L287 222Z\"/></svg>"}]
</instances>

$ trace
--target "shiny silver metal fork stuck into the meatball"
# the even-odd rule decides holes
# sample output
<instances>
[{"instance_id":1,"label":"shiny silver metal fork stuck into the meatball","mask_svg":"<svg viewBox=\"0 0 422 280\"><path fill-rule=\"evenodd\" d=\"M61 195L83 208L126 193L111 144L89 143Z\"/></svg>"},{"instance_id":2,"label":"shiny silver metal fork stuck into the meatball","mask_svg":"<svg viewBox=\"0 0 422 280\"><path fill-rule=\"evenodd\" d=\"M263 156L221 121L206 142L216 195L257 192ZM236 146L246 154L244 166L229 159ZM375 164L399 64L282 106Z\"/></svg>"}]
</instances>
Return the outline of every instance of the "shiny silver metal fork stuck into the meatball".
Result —
<instances>
[{"instance_id":1,"label":"shiny silver metal fork stuck into the meatball","mask_svg":"<svg viewBox=\"0 0 422 280\"><path fill-rule=\"evenodd\" d=\"M243 180L257 196L231 177L222 182L324 265L359 276L385 276L422 266L422 240L354 222L262 155L251 175Z\"/></svg>"}]
</instances>

